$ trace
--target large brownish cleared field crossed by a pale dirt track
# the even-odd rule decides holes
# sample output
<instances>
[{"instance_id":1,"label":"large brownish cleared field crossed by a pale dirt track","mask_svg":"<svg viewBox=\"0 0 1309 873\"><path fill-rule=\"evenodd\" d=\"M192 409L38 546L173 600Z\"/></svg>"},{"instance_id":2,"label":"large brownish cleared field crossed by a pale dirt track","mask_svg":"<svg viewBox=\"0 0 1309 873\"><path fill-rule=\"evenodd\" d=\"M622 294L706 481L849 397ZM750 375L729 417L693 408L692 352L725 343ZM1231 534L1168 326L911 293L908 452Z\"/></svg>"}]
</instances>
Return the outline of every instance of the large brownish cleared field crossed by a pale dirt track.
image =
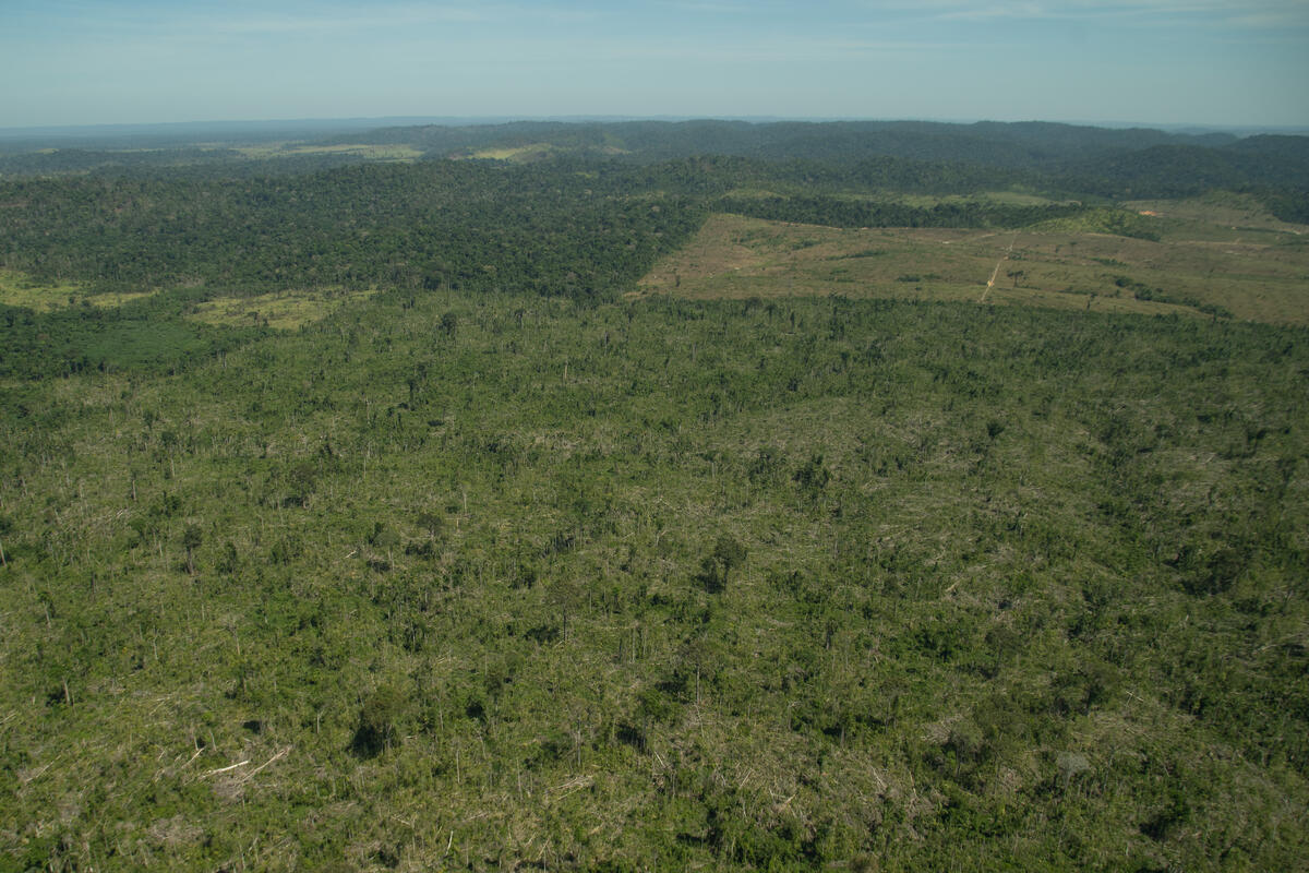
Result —
<instances>
[{"instance_id":1,"label":"large brownish cleared field crossed by a pale dirt track","mask_svg":"<svg viewBox=\"0 0 1309 873\"><path fill-rule=\"evenodd\" d=\"M1076 228L843 229L716 215L656 264L637 293L977 300L1195 315L1195 305L1211 304L1241 319L1309 323L1309 228L1229 199L1134 204L1158 213L1157 242ZM1237 216L1245 224L1232 224ZM1139 298L1145 296L1153 300Z\"/></svg>"}]
</instances>

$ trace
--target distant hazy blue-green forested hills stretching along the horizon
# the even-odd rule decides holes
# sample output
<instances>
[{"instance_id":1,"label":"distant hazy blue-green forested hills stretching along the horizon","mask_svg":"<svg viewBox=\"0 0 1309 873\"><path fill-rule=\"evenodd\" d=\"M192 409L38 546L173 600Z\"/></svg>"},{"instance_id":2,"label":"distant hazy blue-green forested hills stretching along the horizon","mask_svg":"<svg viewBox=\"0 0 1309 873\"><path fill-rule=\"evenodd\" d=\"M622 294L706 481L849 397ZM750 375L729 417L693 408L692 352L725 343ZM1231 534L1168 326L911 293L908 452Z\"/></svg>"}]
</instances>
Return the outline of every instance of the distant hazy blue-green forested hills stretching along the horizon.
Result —
<instances>
[{"instance_id":1,"label":"distant hazy blue-green forested hills stretching along the horizon","mask_svg":"<svg viewBox=\"0 0 1309 873\"><path fill-rule=\"evenodd\" d=\"M1309 137L1284 135L1237 137L1043 122L513 122L352 131L310 140L317 152L274 152L276 161L242 160L223 140L207 148L171 140L154 148L127 148L130 139L123 143L118 149L106 148L113 140L93 140L71 141L71 148L0 151L0 178L86 171L157 175L185 170L224 178L304 173L367 160L368 152L336 151L364 144L403 147L436 160L516 153L530 160L567 156L602 165L649 165L733 156L762 164L770 174L779 171L778 165L802 162L809 165L806 174L839 168L842 174L860 177L872 165L880 182L897 190L1025 185L1153 198L1217 187L1259 192L1288 221L1309 216ZM973 178L957 178L961 174Z\"/></svg>"}]
</instances>

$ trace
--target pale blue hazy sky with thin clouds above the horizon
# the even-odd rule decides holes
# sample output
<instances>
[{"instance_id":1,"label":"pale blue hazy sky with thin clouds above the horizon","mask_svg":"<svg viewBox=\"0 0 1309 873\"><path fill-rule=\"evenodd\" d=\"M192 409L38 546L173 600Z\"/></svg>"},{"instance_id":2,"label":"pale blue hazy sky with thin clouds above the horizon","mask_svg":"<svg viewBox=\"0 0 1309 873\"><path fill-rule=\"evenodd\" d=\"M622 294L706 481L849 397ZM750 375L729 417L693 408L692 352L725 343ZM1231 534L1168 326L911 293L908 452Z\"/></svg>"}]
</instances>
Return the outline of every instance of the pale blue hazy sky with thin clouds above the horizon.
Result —
<instances>
[{"instance_id":1,"label":"pale blue hazy sky with thin clouds above the horizon","mask_svg":"<svg viewBox=\"0 0 1309 873\"><path fill-rule=\"evenodd\" d=\"M1309 0L0 0L0 127L397 115L1309 126Z\"/></svg>"}]
</instances>

